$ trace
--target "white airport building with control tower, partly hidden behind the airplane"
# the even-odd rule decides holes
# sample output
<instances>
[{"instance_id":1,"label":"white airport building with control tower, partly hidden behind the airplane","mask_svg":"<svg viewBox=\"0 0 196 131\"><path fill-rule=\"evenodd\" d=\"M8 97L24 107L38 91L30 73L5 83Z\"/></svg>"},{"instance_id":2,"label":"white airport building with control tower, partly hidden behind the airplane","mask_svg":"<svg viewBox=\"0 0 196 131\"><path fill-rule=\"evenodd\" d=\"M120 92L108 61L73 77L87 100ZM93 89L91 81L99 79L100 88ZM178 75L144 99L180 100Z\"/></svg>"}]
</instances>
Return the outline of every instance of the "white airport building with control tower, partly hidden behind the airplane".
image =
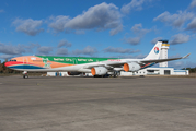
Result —
<instances>
[{"instance_id":1,"label":"white airport building with control tower, partly hidden behind the airplane","mask_svg":"<svg viewBox=\"0 0 196 131\"><path fill-rule=\"evenodd\" d=\"M161 53L160 59L168 59L168 50L170 47L170 44L168 44L168 40L162 40L162 47L161 47ZM48 76L68 76L69 74L67 72L47 72ZM87 73L85 75L91 76L91 73ZM142 70L139 70L138 72L120 72L122 76L129 76L129 75L189 75L188 70L175 70L174 68L168 67L166 62L159 63L159 68L146 68Z\"/></svg>"}]
</instances>

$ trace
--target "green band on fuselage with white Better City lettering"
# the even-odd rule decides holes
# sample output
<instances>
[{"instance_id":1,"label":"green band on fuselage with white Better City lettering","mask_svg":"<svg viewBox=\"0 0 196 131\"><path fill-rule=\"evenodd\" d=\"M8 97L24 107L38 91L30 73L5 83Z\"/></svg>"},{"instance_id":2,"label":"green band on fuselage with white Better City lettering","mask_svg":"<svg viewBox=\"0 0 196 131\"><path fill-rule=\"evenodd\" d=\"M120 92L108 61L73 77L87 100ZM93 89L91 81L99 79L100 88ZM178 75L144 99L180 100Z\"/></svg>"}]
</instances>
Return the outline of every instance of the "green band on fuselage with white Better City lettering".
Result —
<instances>
[{"instance_id":1,"label":"green band on fuselage with white Better City lettering","mask_svg":"<svg viewBox=\"0 0 196 131\"><path fill-rule=\"evenodd\" d=\"M43 62L46 61L54 61L60 63L69 63L69 64L83 64L83 63L91 63L91 62L100 62L106 60L116 60L118 58L88 58L88 57L55 57L55 56L36 56L43 59Z\"/></svg>"}]
</instances>

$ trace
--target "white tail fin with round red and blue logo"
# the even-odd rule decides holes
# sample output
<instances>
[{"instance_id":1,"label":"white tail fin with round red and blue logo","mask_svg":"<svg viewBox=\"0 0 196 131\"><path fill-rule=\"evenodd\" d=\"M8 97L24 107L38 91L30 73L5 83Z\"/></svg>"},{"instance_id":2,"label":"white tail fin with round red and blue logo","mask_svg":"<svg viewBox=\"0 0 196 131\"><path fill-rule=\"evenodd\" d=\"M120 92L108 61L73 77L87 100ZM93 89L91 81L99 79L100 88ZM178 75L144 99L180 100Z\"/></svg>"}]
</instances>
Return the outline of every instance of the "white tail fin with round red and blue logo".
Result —
<instances>
[{"instance_id":1,"label":"white tail fin with round red and blue logo","mask_svg":"<svg viewBox=\"0 0 196 131\"><path fill-rule=\"evenodd\" d=\"M152 50L150 51L150 53L145 58L145 60L154 60L154 59L159 59L160 53L161 53L161 46L162 46L163 40L159 40L154 47L152 48Z\"/></svg>"}]
</instances>

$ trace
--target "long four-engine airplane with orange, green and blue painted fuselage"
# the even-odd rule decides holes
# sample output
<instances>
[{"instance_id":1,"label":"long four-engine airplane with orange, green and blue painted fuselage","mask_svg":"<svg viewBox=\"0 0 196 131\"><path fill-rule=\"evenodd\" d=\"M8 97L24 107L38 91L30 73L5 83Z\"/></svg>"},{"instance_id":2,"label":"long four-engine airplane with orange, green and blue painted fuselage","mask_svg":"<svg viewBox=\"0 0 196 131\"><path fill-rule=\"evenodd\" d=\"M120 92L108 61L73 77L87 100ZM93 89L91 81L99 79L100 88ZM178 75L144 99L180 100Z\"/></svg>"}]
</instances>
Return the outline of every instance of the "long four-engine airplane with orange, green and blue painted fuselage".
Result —
<instances>
[{"instance_id":1,"label":"long four-engine airplane with orange, green and blue painted fuselage","mask_svg":"<svg viewBox=\"0 0 196 131\"><path fill-rule=\"evenodd\" d=\"M5 67L23 71L23 78L28 78L27 72L68 72L69 75L92 73L93 76L113 74L118 76L120 71L137 72L159 62L184 59L189 56L159 59L162 44L168 40L159 40L143 59L119 58L89 58L89 57L57 57L57 56L23 56L12 58L5 62Z\"/></svg>"}]
</instances>

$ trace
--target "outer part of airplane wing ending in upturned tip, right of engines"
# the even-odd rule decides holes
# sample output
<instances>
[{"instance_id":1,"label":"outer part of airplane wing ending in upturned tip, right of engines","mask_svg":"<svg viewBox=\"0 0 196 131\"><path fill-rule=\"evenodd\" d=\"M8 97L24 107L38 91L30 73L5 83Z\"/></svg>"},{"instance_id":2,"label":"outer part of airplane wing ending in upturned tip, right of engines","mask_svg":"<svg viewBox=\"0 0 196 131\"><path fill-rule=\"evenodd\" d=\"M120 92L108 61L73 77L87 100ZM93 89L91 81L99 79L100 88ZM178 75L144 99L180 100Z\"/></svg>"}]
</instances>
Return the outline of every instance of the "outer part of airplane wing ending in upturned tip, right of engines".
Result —
<instances>
[{"instance_id":1,"label":"outer part of airplane wing ending in upturned tip, right of engines","mask_svg":"<svg viewBox=\"0 0 196 131\"><path fill-rule=\"evenodd\" d=\"M172 61L172 60L178 60L178 59L184 59L187 58L191 53L184 56L184 57L180 57L180 58L170 58L170 59L155 59L155 60L141 60L141 63L151 63L151 62L165 62L165 61Z\"/></svg>"}]
</instances>

